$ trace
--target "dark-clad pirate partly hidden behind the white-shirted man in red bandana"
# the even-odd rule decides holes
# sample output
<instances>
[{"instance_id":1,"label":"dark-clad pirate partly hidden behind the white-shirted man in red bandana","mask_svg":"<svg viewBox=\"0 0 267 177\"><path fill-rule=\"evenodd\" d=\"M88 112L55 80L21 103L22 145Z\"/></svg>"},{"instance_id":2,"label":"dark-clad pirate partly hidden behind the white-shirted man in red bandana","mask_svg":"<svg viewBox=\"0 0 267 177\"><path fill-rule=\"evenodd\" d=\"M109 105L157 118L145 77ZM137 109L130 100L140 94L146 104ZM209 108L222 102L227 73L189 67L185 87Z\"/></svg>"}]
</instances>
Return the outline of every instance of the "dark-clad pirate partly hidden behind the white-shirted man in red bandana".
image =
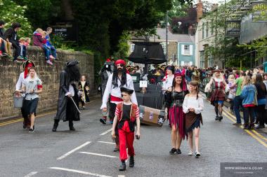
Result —
<instances>
[{"instance_id":1,"label":"dark-clad pirate partly hidden behind the white-shirted man in red bandana","mask_svg":"<svg viewBox=\"0 0 267 177\"><path fill-rule=\"evenodd\" d=\"M106 60L106 62L104 63L103 68L101 69L101 71L98 73L100 78L101 78L101 98L103 98L103 94L105 92L105 87L108 83L108 77L112 74L112 65L113 62L110 61L110 59L108 58ZM108 101L110 102L110 101ZM108 111L102 111L102 118L100 118L100 122L102 122L103 124L106 124L107 121L107 116L108 116Z\"/></svg>"}]
</instances>

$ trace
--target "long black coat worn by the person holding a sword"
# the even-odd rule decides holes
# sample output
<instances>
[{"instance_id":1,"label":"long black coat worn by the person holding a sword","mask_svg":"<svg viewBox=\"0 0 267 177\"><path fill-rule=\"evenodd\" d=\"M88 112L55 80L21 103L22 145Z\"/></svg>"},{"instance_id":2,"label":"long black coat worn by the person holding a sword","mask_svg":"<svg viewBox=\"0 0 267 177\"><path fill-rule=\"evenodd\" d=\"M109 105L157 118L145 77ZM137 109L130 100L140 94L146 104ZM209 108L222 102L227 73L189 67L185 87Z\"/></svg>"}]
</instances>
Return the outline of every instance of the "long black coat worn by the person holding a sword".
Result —
<instances>
[{"instance_id":1,"label":"long black coat worn by the person holding a sword","mask_svg":"<svg viewBox=\"0 0 267 177\"><path fill-rule=\"evenodd\" d=\"M77 108L74 106L72 100L65 96L65 94L69 91L70 86L70 77L68 76L67 72L65 70L60 72L60 87L58 92L58 108L55 120L73 120L73 121L79 121L79 112L77 111ZM78 96L78 90L75 84L72 84L74 87L74 97L72 99L76 103L76 105L79 108L79 96Z\"/></svg>"}]
</instances>

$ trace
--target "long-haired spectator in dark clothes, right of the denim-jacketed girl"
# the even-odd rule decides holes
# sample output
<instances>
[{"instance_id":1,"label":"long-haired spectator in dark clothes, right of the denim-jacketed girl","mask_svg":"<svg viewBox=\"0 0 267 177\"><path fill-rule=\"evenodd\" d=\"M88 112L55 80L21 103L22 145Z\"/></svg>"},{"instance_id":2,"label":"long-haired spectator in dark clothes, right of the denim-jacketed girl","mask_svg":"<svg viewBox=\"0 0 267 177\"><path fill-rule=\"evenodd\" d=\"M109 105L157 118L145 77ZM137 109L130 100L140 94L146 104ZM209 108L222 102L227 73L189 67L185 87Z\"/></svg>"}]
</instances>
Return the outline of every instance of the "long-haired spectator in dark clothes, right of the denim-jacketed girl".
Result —
<instances>
[{"instance_id":1,"label":"long-haired spectator in dark clothes, right of the denim-jacketed girl","mask_svg":"<svg viewBox=\"0 0 267 177\"><path fill-rule=\"evenodd\" d=\"M265 127L264 125L264 114L265 114L265 105L266 105L266 86L263 83L263 78L260 73L256 74L256 79L254 83L257 92L257 102L258 105L256 106L256 115L257 119L259 120L259 125L256 126L256 129L262 129Z\"/></svg>"}]
</instances>

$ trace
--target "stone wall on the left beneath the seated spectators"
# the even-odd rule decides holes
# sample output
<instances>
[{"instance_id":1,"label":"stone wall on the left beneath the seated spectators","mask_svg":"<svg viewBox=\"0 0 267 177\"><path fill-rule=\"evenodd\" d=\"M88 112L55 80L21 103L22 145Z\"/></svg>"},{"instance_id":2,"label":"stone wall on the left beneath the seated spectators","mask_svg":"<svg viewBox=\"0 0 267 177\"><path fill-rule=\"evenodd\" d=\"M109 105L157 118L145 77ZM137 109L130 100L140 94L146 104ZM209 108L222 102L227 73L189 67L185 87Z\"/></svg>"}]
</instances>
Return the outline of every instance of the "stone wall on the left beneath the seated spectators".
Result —
<instances>
[{"instance_id":1,"label":"stone wall on the left beneath the seated spectators","mask_svg":"<svg viewBox=\"0 0 267 177\"><path fill-rule=\"evenodd\" d=\"M30 46L27 50L27 57L34 61L37 74L43 81L43 92L39 95L38 113L55 110L58 101L59 73L65 67L65 62L71 59L78 59L81 74L86 75L89 80L91 96L95 95L93 56L83 52L70 52L58 50L58 63L53 66L46 64L44 52L38 47ZM13 108L12 94L15 91L15 84L22 72L22 64L13 63L11 59L0 58L0 118L20 116L20 108Z\"/></svg>"}]
</instances>

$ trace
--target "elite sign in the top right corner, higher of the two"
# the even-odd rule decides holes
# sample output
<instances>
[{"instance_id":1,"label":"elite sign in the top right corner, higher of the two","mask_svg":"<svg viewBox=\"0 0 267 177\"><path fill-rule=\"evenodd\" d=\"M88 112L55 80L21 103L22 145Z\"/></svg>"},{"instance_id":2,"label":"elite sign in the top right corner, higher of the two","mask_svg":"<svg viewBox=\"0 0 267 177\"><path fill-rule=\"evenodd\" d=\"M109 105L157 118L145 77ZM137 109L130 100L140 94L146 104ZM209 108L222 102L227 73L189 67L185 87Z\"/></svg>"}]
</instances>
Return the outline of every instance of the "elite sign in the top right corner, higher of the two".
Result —
<instances>
[{"instance_id":1,"label":"elite sign in the top right corner, higher of the two","mask_svg":"<svg viewBox=\"0 0 267 177\"><path fill-rule=\"evenodd\" d=\"M252 1L252 22L267 22L267 1Z\"/></svg>"}]
</instances>

